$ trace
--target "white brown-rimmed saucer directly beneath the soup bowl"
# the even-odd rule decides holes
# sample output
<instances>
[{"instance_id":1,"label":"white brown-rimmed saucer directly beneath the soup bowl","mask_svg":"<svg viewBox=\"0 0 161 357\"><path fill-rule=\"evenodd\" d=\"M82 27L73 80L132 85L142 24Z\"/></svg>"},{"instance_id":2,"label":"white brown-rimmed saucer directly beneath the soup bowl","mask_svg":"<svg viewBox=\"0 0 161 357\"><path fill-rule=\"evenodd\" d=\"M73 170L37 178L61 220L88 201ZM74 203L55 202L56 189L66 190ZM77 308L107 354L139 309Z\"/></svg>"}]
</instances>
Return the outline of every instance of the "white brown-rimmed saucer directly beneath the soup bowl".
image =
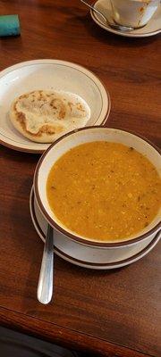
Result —
<instances>
[{"instance_id":1,"label":"white brown-rimmed saucer directly beneath the soup bowl","mask_svg":"<svg viewBox=\"0 0 161 357\"><path fill-rule=\"evenodd\" d=\"M44 218L42 212L38 208L38 204L34 197L33 188L30 192L30 215L34 227L38 232L38 236L45 242L47 234L47 220ZM101 250L100 248L80 245L75 243L68 237L54 231L55 235L55 253L67 262L78 265L83 268L95 270L110 270L121 268L129 265L132 262L137 262L144 255L148 254L160 239L161 233L157 233L150 243L144 243L140 252L135 246L131 245L131 257L124 256L122 260L113 262L113 257L109 256L109 252Z\"/></svg>"}]
</instances>

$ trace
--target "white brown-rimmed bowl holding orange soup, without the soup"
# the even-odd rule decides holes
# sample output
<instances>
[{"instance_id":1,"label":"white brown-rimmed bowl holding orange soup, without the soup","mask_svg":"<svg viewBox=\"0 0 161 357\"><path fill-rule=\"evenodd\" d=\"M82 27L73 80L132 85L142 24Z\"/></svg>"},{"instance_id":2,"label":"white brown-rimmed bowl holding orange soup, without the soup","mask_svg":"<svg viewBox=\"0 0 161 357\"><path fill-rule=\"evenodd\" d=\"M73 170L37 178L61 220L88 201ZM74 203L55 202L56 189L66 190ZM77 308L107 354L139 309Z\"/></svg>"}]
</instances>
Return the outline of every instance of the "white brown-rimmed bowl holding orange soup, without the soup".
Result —
<instances>
[{"instance_id":1,"label":"white brown-rimmed bowl holding orange soup, without the soup","mask_svg":"<svg viewBox=\"0 0 161 357\"><path fill-rule=\"evenodd\" d=\"M64 135L64 137L58 139L47 149L45 154L41 156L34 175L34 193L40 211L48 223L58 232L67 237L67 239L72 239L76 245L86 245L92 249L101 249L103 255L106 254L106 256L109 256L109 260L113 259L113 262L116 262L123 259L123 257L130 257L132 252L140 252L141 249L152 241L157 232L161 229L161 210L148 227L142 229L142 231L133 236L132 239L118 243L105 243L76 236L70 229L65 228L64 225L56 219L47 202L47 176L58 158L74 146L99 140L122 143L134 147L138 152L148 157L150 162L157 168L159 175L161 175L161 158L155 145L151 145L142 137L121 129L90 127L74 130Z\"/></svg>"}]
</instances>

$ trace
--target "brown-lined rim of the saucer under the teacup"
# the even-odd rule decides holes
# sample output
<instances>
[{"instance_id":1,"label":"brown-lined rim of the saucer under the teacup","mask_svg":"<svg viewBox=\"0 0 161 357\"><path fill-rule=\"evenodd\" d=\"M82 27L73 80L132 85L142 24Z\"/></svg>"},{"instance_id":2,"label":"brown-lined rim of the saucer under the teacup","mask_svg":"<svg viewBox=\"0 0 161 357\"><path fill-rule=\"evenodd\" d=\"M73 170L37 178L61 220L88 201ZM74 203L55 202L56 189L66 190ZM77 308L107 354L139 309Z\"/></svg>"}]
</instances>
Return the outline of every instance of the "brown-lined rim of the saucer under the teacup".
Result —
<instances>
[{"instance_id":1,"label":"brown-lined rim of the saucer under the teacup","mask_svg":"<svg viewBox=\"0 0 161 357\"><path fill-rule=\"evenodd\" d=\"M96 4L100 3L100 1L102 1L102 0L96 0L92 4L92 6L95 7ZM160 12L161 12L161 10L160 10ZM97 19L97 16L96 16L95 12L92 9L90 10L90 16L91 16L92 20L95 21L95 23L97 23L97 25L99 27L101 27L102 29L105 29L108 32L113 33L114 35L119 35L119 36L123 36L123 37L131 37L131 38L140 38L140 37L151 37L151 36L155 36L155 35L161 33L161 29L156 29L154 31L145 32L144 34L141 34L141 33L140 34L139 33L136 34L136 33L133 33L133 32L123 32L123 31L119 31L117 29L112 29L112 28L104 25L102 21L99 21Z\"/></svg>"}]
</instances>

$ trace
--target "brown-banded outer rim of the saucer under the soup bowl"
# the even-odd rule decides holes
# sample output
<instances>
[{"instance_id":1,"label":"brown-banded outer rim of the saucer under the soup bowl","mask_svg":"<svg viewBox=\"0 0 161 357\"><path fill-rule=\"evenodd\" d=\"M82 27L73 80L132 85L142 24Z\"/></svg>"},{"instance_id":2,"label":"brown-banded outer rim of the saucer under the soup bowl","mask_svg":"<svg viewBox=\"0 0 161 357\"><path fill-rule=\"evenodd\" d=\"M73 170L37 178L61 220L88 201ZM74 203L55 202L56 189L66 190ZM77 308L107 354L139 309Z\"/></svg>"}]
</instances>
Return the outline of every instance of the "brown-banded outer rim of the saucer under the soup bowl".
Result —
<instances>
[{"instance_id":1,"label":"brown-banded outer rim of the saucer under the soup bowl","mask_svg":"<svg viewBox=\"0 0 161 357\"><path fill-rule=\"evenodd\" d=\"M35 212L35 206L34 206L35 200L36 200L36 198L34 195L34 188L32 186L30 189L30 217L31 217L33 226L38 233L38 237L40 237L40 239L43 242L45 242L45 234L39 226L39 222L38 222L36 212ZM45 218L44 218L44 220L45 220ZM136 253L136 254L132 255L130 258L126 258L126 259L123 259L122 261L118 261L118 262L110 262L110 263L85 262L85 261L76 259L67 253L62 252L57 247L55 247L54 251L58 256L60 256L66 262L71 262L72 264L80 266L82 268L95 269L95 270L119 269L126 265L130 265L132 262L139 261L146 254L148 254L155 247L155 245L157 245L157 243L160 240L160 236L161 236L161 232L159 231L159 232L157 232L156 236L151 240L151 242L148 243L148 245L146 247L144 247L139 253Z\"/></svg>"}]
</instances>

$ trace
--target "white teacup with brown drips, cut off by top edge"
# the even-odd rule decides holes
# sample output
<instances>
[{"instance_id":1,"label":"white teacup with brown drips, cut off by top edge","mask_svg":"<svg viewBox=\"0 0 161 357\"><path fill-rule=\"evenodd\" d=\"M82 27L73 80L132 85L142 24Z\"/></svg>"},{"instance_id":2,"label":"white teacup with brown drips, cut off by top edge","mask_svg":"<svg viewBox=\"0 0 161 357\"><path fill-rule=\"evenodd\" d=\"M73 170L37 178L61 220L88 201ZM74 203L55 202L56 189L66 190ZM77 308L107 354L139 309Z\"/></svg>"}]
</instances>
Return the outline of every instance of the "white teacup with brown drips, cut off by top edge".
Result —
<instances>
[{"instance_id":1,"label":"white teacup with brown drips, cut off by top edge","mask_svg":"<svg viewBox=\"0 0 161 357\"><path fill-rule=\"evenodd\" d=\"M134 29L145 26L156 12L160 0L111 0L114 21Z\"/></svg>"}]
</instances>

